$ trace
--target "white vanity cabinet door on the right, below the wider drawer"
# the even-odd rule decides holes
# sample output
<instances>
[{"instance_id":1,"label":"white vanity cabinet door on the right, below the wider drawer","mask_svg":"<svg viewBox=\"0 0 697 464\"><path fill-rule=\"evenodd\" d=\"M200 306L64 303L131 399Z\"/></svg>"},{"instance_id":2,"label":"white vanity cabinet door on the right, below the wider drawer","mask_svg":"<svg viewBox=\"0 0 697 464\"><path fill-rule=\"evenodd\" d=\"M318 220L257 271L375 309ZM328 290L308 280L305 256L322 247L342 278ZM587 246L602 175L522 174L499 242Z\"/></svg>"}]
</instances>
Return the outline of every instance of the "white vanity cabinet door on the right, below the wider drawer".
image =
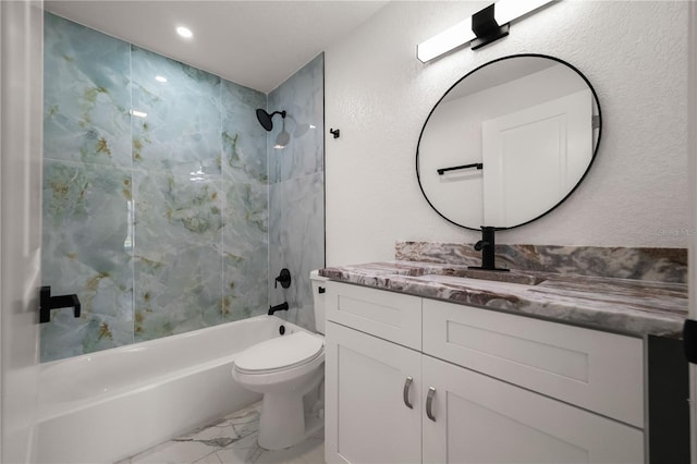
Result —
<instances>
[{"instance_id":1,"label":"white vanity cabinet door on the right, below the wider drawer","mask_svg":"<svg viewBox=\"0 0 697 464\"><path fill-rule=\"evenodd\" d=\"M430 356L423 378L425 463L644 462L634 427Z\"/></svg>"}]
</instances>

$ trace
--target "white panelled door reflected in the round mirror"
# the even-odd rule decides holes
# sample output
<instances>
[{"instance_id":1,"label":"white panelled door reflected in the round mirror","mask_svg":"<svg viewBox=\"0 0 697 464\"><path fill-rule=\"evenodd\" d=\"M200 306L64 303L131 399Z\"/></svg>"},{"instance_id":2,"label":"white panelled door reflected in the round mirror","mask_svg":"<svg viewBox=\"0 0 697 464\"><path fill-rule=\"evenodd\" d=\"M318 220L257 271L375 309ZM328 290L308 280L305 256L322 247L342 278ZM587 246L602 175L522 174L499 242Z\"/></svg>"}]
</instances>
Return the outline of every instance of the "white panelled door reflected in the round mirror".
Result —
<instances>
[{"instance_id":1,"label":"white panelled door reflected in the round mirror","mask_svg":"<svg viewBox=\"0 0 697 464\"><path fill-rule=\"evenodd\" d=\"M592 95L577 91L484 121L484 223L511 227L566 196L592 157Z\"/></svg>"}]
</instances>

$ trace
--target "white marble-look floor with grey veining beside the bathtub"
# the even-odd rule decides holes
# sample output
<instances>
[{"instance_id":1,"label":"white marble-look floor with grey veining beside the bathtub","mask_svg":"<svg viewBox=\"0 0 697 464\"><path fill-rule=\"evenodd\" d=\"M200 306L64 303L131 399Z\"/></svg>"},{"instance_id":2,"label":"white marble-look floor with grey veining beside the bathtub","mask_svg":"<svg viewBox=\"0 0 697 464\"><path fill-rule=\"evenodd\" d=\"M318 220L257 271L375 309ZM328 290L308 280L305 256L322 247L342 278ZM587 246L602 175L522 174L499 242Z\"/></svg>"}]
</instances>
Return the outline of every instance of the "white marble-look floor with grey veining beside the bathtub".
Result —
<instances>
[{"instance_id":1,"label":"white marble-look floor with grey veining beside the bathtub","mask_svg":"<svg viewBox=\"0 0 697 464\"><path fill-rule=\"evenodd\" d=\"M255 403L182 437L158 444L117 464L321 464L325 462L325 431L280 451L257 444L259 410Z\"/></svg>"}]
</instances>

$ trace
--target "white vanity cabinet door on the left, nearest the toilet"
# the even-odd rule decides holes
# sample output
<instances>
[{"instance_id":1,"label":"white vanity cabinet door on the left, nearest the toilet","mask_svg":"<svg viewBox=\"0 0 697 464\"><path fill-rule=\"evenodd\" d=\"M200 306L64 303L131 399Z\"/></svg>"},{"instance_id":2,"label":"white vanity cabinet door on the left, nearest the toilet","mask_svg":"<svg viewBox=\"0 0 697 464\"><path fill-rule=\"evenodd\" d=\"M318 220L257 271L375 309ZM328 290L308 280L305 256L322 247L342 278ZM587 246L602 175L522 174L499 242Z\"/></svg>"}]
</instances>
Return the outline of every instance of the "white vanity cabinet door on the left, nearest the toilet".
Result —
<instances>
[{"instance_id":1,"label":"white vanity cabinet door on the left, nearest the toilet","mask_svg":"<svg viewBox=\"0 0 697 464\"><path fill-rule=\"evenodd\" d=\"M421 354L338 323L326 329L327 462L420 462Z\"/></svg>"}]
</instances>

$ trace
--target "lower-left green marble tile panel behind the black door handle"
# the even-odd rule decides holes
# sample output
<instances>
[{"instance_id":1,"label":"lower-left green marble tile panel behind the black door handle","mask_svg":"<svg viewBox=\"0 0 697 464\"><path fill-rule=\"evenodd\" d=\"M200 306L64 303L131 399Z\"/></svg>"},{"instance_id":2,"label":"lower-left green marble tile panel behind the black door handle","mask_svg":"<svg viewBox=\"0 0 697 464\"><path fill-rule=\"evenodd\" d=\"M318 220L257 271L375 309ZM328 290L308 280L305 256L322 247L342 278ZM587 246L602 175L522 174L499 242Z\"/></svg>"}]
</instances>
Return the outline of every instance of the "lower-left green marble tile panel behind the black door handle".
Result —
<instances>
[{"instance_id":1,"label":"lower-left green marble tile panel behind the black door handle","mask_svg":"<svg viewBox=\"0 0 697 464\"><path fill-rule=\"evenodd\" d=\"M41 361L133 342L132 205L129 170L44 162L41 284L77 294L82 315L41 326Z\"/></svg>"}]
</instances>

